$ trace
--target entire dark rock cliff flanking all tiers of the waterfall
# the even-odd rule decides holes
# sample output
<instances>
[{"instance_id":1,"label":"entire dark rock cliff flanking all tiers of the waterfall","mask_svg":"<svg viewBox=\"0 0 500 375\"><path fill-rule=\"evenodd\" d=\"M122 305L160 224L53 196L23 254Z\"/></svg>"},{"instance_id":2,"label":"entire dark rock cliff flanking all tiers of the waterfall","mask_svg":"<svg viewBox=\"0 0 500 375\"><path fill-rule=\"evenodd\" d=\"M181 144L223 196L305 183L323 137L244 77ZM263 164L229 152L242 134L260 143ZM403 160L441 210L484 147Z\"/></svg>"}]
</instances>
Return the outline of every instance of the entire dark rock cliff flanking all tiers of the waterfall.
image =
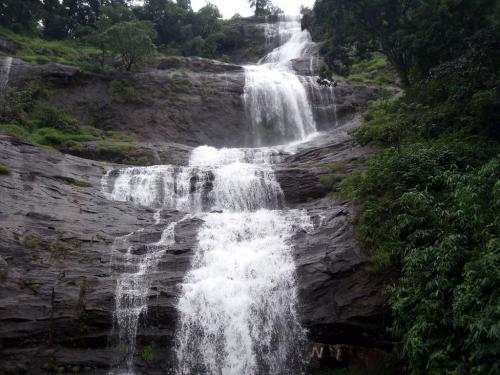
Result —
<instances>
[{"instance_id":1,"label":"entire dark rock cliff flanking all tiers of the waterfall","mask_svg":"<svg viewBox=\"0 0 500 375\"><path fill-rule=\"evenodd\" d=\"M248 36L261 29L248 24L237 32ZM248 54L235 48L232 58L241 63ZM354 239L353 205L326 197L320 181L329 173L328 164L342 164L345 175L373 151L354 146L351 133L377 90L341 80L334 90L332 119L324 92L311 78L318 67L295 64L302 79L309 79L320 129L330 133L276 165L287 205L307 210L315 225L295 238L301 320L311 341L383 349L384 277L369 271L368 257ZM244 83L242 66L200 58L169 58L133 76L112 77L14 59L10 75L12 86L37 84L51 90L51 104L69 110L81 124L135 134L159 162L157 151L170 145L169 162L178 165L197 145L245 145L250 125L244 120ZM81 156L91 157L92 144L86 147ZM133 233L130 244L140 252L183 213L163 211L158 224L149 209L106 199L101 179L114 164L5 136L0 136L0 149L0 163L10 170L0 175L0 371L107 373L121 358L112 345L120 273L112 261L113 243ZM171 370L175 303L199 225L198 219L187 219L176 227L175 245L154 274L137 338L136 363L145 374ZM141 355L145 348L154 351L152 360Z\"/></svg>"}]
</instances>

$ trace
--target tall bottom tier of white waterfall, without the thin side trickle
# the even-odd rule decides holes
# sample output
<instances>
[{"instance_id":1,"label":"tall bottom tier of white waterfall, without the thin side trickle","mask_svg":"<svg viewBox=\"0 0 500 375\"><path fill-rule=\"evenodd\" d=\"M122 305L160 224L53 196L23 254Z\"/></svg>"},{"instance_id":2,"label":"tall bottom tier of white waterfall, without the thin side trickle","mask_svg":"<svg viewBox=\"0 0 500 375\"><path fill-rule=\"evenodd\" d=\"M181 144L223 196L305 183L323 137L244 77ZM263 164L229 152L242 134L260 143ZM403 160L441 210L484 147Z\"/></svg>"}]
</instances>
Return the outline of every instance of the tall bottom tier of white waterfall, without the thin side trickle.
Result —
<instances>
[{"instance_id":1,"label":"tall bottom tier of white waterfall, without the thin side trickle","mask_svg":"<svg viewBox=\"0 0 500 375\"><path fill-rule=\"evenodd\" d=\"M209 214L179 301L178 374L300 374L291 236L307 217Z\"/></svg>"}]
</instances>

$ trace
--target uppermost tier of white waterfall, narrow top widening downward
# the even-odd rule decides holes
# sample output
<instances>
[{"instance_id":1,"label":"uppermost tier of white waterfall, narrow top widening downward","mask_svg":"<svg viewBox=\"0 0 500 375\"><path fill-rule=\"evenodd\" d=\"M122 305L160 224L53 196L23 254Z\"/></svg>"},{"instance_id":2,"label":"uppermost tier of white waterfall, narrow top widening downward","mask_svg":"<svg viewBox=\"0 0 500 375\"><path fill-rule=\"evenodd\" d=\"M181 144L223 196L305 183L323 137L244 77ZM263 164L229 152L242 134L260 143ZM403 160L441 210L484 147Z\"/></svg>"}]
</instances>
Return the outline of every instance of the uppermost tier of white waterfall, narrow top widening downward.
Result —
<instances>
[{"instance_id":1,"label":"uppermost tier of white waterfall, narrow top widening downward","mask_svg":"<svg viewBox=\"0 0 500 375\"><path fill-rule=\"evenodd\" d=\"M303 139L316 131L306 88L291 68L308 51L311 35L301 30L299 17L282 16L276 30L280 46L259 65L245 66L243 100L257 146Z\"/></svg>"}]
</instances>

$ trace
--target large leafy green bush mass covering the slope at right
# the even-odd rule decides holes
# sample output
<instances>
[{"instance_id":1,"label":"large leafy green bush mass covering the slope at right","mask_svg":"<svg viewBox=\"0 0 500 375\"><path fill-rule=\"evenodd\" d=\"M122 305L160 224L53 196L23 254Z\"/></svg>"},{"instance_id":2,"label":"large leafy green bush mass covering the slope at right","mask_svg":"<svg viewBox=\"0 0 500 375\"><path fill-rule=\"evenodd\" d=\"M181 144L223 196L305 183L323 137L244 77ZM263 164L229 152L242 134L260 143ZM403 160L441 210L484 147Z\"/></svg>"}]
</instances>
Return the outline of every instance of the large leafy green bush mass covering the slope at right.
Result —
<instances>
[{"instance_id":1,"label":"large leafy green bush mass covering the slope at right","mask_svg":"<svg viewBox=\"0 0 500 375\"><path fill-rule=\"evenodd\" d=\"M357 139L385 149L341 183L373 270L401 270L393 329L414 374L498 370L500 146L479 115L448 124L468 112L457 110L410 97L374 105Z\"/></svg>"}]
</instances>

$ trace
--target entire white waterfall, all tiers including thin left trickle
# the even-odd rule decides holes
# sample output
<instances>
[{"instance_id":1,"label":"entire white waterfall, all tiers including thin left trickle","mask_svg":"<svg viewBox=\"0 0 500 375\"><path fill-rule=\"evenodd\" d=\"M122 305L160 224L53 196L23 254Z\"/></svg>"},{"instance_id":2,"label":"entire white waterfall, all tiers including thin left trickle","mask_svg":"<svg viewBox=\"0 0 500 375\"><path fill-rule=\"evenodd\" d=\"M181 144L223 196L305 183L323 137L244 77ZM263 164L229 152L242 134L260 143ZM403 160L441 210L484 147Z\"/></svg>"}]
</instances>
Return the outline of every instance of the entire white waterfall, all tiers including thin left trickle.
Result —
<instances>
[{"instance_id":1,"label":"entire white waterfall, all tiers including thin left trickle","mask_svg":"<svg viewBox=\"0 0 500 375\"><path fill-rule=\"evenodd\" d=\"M308 91L291 66L307 53L310 35L295 17L282 18L274 30L279 47L245 67L243 99L255 146L297 142L316 131ZM202 146L186 167L125 168L103 179L110 199L203 220L177 305L177 375L302 373L305 332L297 314L291 239L311 222L304 212L286 209L274 175L273 163L289 149ZM175 226L141 256L127 238L115 244L128 268L117 281L117 330L126 349L114 374L134 373L135 336L151 286L147 275L175 241Z\"/></svg>"}]
</instances>

